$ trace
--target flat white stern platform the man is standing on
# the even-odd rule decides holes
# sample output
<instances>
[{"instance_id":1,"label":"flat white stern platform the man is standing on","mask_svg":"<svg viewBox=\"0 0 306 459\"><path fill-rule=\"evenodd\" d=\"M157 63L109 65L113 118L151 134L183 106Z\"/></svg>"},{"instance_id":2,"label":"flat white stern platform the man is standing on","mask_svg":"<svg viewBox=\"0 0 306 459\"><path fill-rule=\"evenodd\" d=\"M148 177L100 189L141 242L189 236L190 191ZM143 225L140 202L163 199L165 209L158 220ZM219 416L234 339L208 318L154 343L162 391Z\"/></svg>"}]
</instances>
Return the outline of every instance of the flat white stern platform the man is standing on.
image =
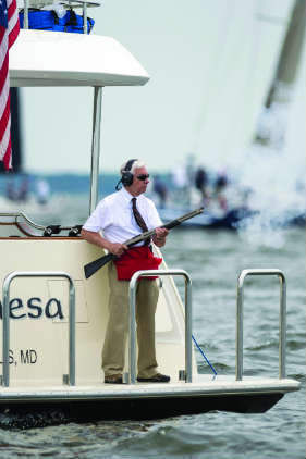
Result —
<instances>
[{"instance_id":1,"label":"flat white stern platform the man is standing on","mask_svg":"<svg viewBox=\"0 0 306 459\"><path fill-rule=\"evenodd\" d=\"M198 375L196 382L136 383L93 385L52 385L52 386L10 386L0 390L1 404L10 402L50 402L70 400L115 400L146 398L184 397L227 397L231 395L271 395L285 394L299 388L299 383L291 379L264 379L245 376L236 381L234 376Z\"/></svg>"}]
</instances>

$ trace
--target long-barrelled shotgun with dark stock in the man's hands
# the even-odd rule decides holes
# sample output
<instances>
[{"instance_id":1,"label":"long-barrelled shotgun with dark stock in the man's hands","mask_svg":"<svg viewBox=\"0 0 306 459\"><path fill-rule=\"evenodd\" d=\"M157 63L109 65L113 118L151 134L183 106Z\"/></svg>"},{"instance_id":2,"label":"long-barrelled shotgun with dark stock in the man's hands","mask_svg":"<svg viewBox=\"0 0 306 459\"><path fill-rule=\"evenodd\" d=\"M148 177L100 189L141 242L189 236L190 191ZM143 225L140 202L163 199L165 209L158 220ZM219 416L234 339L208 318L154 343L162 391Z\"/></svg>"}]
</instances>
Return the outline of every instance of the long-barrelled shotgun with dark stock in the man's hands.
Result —
<instances>
[{"instance_id":1,"label":"long-barrelled shotgun with dark stock in the man's hands","mask_svg":"<svg viewBox=\"0 0 306 459\"><path fill-rule=\"evenodd\" d=\"M161 228L172 230L174 226L180 225L185 220L193 219L196 215L199 215L203 212L204 208L199 208L194 210L193 212L186 213L185 215L179 216L175 220L172 220L169 223L166 223L164 225L161 225ZM135 237L132 237L132 239L126 240L125 246L132 247L135 244L142 243L143 240L149 239L155 234L155 230L147 231L145 233L140 233ZM98 271L100 268L102 268L105 264L107 264L111 260L115 260L118 257L113 253L105 255L103 257L97 258L97 260L91 261L90 263L85 264L84 272L85 277L89 278L93 274L95 274L96 271Z\"/></svg>"}]
</instances>

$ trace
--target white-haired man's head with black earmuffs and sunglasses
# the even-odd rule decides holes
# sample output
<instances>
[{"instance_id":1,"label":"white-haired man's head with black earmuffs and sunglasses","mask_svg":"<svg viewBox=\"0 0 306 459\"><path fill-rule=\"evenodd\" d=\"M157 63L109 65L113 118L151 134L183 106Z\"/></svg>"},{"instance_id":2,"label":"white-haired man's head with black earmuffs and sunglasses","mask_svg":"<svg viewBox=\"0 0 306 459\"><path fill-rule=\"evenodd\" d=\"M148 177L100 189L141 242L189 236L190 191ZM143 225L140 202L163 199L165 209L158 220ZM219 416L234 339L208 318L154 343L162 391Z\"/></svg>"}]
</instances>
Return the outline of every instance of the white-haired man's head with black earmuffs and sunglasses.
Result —
<instances>
[{"instance_id":1,"label":"white-haired man's head with black earmuffs and sunglasses","mask_svg":"<svg viewBox=\"0 0 306 459\"><path fill-rule=\"evenodd\" d=\"M139 196L147 190L149 174L144 161L133 159L120 168L121 182L133 196Z\"/></svg>"}]
</instances>

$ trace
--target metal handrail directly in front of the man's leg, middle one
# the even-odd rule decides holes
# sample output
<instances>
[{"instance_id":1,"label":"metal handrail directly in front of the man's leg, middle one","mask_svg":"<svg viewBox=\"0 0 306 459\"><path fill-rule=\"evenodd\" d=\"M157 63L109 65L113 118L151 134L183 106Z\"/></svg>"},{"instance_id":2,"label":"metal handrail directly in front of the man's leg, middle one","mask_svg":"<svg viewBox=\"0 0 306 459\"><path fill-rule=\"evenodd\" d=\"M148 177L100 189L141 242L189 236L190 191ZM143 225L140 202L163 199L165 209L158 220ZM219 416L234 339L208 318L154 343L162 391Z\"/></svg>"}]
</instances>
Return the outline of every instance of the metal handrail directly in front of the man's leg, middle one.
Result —
<instances>
[{"instance_id":1,"label":"metal handrail directly in front of the man's leg, middle one","mask_svg":"<svg viewBox=\"0 0 306 459\"><path fill-rule=\"evenodd\" d=\"M184 270L147 270L137 271L130 281L130 339L128 339L128 384L136 383L136 283L138 278L160 275L181 275L185 278L185 382L193 382L192 361L192 280Z\"/></svg>"}]
</instances>

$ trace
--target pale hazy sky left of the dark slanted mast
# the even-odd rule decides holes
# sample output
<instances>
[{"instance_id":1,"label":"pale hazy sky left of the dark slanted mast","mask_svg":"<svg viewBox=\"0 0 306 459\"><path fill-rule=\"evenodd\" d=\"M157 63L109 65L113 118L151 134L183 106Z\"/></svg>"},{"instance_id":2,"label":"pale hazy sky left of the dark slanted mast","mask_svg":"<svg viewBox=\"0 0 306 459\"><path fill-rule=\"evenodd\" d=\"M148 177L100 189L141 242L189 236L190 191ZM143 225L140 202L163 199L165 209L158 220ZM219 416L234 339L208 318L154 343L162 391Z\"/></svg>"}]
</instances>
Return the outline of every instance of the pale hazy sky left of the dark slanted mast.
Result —
<instances>
[{"instance_id":1,"label":"pale hazy sky left of the dark slanted mast","mask_svg":"<svg viewBox=\"0 0 306 459\"><path fill-rule=\"evenodd\" d=\"M240 163L292 5L279 3L103 0L88 9L93 33L119 40L150 75L143 87L103 89L100 169L140 158L169 172L191 153L217 169ZM93 89L25 88L21 103L25 170L88 173Z\"/></svg>"}]
</instances>

